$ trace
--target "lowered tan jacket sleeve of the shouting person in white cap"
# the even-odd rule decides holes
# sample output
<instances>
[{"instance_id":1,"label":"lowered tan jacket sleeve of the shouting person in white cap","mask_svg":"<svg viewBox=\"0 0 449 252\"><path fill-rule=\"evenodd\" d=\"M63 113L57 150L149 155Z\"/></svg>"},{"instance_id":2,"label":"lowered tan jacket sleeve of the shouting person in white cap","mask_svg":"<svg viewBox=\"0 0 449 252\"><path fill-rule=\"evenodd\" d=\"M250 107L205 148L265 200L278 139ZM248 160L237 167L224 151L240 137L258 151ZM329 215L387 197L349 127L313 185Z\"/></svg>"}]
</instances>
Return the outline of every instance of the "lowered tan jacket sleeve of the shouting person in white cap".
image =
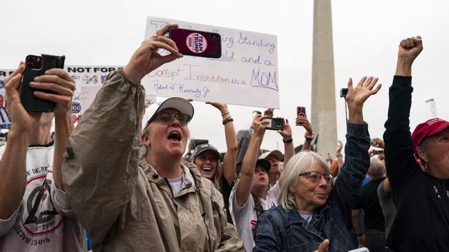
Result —
<instances>
[{"instance_id":1,"label":"lowered tan jacket sleeve of the shouting person in white cap","mask_svg":"<svg viewBox=\"0 0 449 252\"><path fill-rule=\"evenodd\" d=\"M223 196L215 187L212 187L212 198L213 204L216 204L216 206L214 206L214 211L217 211L218 213L222 233L220 246L216 251L245 251L243 248L243 242L238 236L236 227L227 222Z\"/></svg>"}]
</instances>

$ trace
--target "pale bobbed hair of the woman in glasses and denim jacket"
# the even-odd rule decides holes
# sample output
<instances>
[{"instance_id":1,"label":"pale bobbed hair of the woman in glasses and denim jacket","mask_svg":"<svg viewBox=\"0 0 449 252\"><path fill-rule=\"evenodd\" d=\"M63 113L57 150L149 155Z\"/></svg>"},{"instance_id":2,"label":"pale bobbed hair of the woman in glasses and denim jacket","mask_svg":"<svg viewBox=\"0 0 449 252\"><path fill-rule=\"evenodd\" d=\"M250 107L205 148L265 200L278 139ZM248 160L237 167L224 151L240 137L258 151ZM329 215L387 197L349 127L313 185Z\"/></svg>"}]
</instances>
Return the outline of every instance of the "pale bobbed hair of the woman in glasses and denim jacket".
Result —
<instances>
[{"instance_id":1,"label":"pale bobbed hair of the woman in glasses and denim jacket","mask_svg":"<svg viewBox=\"0 0 449 252\"><path fill-rule=\"evenodd\" d=\"M280 187L278 198L278 203L282 204L284 209L290 210L292 206L296 206L295 198L290 188L296 187L298 177L301 174L313 171L316 165L320 165L327 174L330 174L329 166L325 160L323 160L320 154L313 151L300 151L287 162L287 165L284 167L283 185Z\"/></svg>"}]
</instances>

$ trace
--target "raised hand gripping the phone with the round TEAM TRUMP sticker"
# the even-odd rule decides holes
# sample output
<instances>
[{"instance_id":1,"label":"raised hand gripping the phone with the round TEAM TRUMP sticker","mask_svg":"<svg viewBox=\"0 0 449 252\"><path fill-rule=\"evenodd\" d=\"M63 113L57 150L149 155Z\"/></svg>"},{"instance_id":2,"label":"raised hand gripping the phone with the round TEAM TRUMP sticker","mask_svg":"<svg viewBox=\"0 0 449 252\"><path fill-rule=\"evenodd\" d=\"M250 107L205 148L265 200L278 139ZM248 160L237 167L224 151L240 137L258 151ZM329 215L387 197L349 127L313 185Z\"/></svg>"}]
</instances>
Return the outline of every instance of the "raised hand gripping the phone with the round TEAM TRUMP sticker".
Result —
<instances>
[{"instance_id":1,"label":"raised hand gripping the phone with the round TEAM TRUMP sticker","mask_svg":"<svg viewBox=\"0 0 449 252\"><path fill-rule=\"evenodd\" d=\"M130 81L140 83L140 80L146 74L149 74L157 67L182 57L175 42L165 36L170 28L178 28L178 25L173 23L165 25L149 39L146 39L140 45L140 48L134 52L131 60L123 69L124 74ZM159 49L165 49L170 54L162 56L157 52Z\"/></svg>"}]
</instances>

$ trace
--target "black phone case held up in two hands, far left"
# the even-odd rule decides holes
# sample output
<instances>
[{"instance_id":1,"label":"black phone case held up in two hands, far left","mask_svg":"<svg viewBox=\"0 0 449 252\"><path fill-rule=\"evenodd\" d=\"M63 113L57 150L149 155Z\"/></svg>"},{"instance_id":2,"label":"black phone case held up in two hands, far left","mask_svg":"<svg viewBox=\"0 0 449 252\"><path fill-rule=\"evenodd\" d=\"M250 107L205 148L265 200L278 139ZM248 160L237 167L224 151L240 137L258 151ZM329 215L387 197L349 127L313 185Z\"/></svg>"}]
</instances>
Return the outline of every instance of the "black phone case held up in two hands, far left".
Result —
<instances>
[{"instance_id":1,"label":"black phone case held up in two hands, far left","mask_svg":"<svg viewBox=\"0 0 449 252\"><path fill-rule=\"evenodd\" d=\"M52 101L46 101L34 96L33 92L41 91L46 93L52 93L48 90L37 90L35 88L30 87L30 82L33 81L37 76L44 75L46 70L50 70L52 68L64 68L64 61L66 56L54 56L41 54L43 62L40 70L33 70L26 66L25 71L23 72L22 85L21 85L21 95L20 101L26 111L29 112L53 112L55 109L55 103Z\"/></svg>"}]
</instances>

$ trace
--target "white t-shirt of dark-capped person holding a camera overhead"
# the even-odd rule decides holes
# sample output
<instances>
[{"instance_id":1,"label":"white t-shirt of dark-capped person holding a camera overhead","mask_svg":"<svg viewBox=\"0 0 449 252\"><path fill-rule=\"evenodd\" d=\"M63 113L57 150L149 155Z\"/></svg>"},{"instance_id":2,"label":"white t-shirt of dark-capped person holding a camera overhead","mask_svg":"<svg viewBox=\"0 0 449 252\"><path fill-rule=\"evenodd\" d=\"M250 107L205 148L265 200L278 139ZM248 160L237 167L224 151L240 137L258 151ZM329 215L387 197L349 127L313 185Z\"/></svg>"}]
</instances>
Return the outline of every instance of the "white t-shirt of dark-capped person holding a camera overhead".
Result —
<instances>
[{"instance_id":1,"label":"white t-shirt of dark-capped person holding a camera overhead","mask_svg":"<svg viewBox=\"0 0 449 252\"><path fill-rule=\"evenodd\" d=\"M254 238L253 238L253 229L256 228L257 217L256 217L256 209L254 208L254 199L251 194L249 194L249 198L242 207L240 207L237 203L236 198L236 188L238 182L236 183L236 187L234 187L231 192L230 198L232 199L232 212L231 216L233 217L233 222L236 224L236 228L238 234L240 235L240 239L242 239L243 245L245 246L246 251L253 251L255 246ZM262 205L264 210L268 210L271 207L276 207L278 205L278 197L280 194L280 186L279 182L269 189L267 193L267 198L259 199L260 204ZM230 206L230 207L231 207Z\"/></svg>"}]
</instances>

